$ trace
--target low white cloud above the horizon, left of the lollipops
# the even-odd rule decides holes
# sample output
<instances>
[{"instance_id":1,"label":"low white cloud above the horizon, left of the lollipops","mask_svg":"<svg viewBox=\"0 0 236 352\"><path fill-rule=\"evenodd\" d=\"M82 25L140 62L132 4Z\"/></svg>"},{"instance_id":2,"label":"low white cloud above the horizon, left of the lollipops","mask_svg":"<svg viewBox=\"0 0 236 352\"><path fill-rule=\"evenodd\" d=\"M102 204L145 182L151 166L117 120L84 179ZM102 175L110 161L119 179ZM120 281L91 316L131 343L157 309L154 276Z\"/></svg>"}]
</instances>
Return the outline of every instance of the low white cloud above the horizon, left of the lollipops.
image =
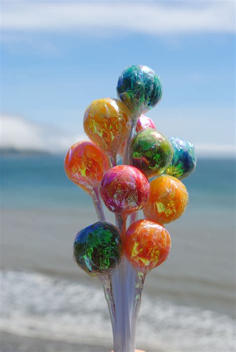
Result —
<instances>
[{"instance_id":1,"label":"low white cloud above the horizon, left of the lollipops","mask_svg":"<svg viewBox=\"0 0 236 352\"><path fill-rule=\"evenodd\" d=\"M85 134L66 133L19 116L1 115L0 148L62 153L77 141L86 139Z\"/></svg>"}]
</instances>

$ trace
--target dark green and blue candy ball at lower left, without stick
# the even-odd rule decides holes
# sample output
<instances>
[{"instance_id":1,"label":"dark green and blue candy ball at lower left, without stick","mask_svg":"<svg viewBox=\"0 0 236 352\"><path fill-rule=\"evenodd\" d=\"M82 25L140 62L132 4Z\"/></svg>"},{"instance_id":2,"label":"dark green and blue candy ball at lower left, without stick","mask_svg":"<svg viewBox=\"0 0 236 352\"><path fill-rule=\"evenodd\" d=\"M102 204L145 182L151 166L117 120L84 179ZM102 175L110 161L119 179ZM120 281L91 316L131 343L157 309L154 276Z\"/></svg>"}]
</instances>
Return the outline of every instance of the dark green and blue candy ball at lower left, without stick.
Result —
<instances>
[{"instance_id":1,"label":"dark green and blue candy ball at lower left, without stick","mask_svg":"<svg viewBox=\"0 0 236 352\"><path fill-rule=\"evenodd\" d=\"M122 247L118 229L107 222L96 222L75 237L73 257L90 275L109 274L121 260Z\"/></svg>"}]
</instances>

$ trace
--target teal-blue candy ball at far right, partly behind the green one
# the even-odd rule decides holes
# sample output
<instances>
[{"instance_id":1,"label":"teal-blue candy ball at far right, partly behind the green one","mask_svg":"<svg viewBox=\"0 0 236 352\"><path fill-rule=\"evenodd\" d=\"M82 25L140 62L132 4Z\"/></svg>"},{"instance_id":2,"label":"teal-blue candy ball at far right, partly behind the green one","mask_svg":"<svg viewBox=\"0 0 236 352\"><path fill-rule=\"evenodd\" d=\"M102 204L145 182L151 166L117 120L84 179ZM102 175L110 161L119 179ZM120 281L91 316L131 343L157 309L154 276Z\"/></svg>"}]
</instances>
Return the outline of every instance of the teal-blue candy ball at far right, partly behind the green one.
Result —
<instances>
[{"instance_id":1,"label":"teal-blue candy ball at far right, partly behind the green one","mask_svg":"<svg viewBox=\"0 0 236 352\"><path fill-rule=\"evenodd\" d=\"M165 174L183 179L192 174L196 169L196 153L194 145L190 142L171 137L174 155Z\"/></svg>"}]
</instances>

